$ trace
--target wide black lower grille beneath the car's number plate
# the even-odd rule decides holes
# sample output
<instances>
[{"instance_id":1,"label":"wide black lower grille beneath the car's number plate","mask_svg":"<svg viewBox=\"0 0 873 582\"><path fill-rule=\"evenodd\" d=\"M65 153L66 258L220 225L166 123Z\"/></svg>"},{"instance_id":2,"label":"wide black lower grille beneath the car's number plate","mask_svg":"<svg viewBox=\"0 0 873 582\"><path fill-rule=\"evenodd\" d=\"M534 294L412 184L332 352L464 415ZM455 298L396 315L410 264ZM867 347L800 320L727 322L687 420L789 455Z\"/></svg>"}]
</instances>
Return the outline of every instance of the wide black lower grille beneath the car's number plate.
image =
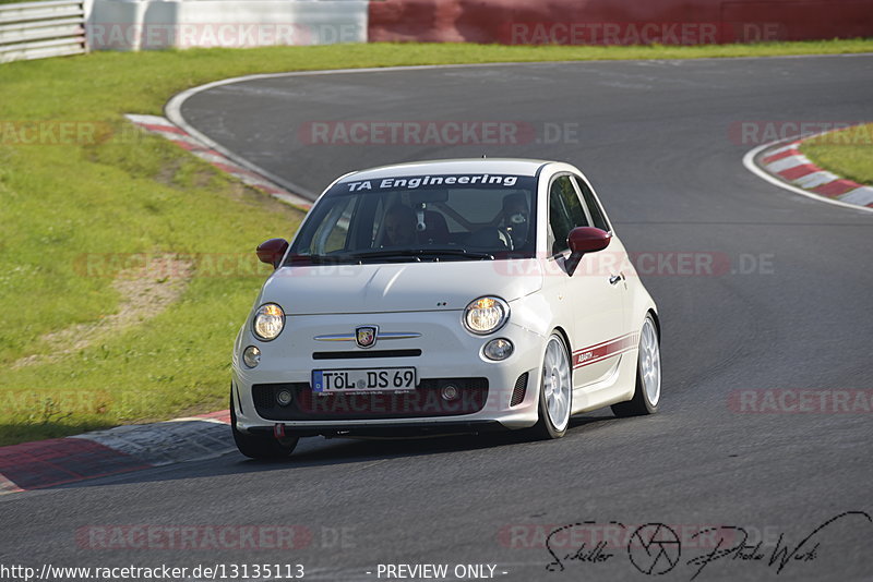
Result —
<instances>
[{"instance_id":1,"label":"wide black lower grille beneath the car's number plate","mask_svg":"<svg viewBox=\"0 0 873 582\"><path fill-rule=\"evenodd\" d=\"M445 400L442 390L458 389L455 400ZM282 407L276 395L287 389L291 402ZM415 390L405 392L313 392L309 383L255 384L254 408L268 421L342 421L378 419L439 417L473 414L488 400L488 378L424 378Z\"/></svg>"}]
</instances>

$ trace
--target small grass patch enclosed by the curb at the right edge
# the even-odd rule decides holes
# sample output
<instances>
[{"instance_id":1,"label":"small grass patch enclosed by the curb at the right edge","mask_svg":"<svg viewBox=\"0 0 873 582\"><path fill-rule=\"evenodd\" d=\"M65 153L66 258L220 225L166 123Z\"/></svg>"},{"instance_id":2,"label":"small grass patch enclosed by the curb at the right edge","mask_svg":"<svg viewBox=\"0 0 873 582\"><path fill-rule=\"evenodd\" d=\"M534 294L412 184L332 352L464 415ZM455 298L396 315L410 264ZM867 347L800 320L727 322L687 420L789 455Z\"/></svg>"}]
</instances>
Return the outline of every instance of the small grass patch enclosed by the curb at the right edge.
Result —
<instances>
[{"instance_id":1,"label":"small grass patch enclosed by the curb at the right edge","mask_svg":"<svg viewBox=\"0 0 873 582\"><path fill-rule=\"evenodd\" d=\"M800 150L822 168L873 185L873 123L813 137Z\"/></svg>"}]
</instances>

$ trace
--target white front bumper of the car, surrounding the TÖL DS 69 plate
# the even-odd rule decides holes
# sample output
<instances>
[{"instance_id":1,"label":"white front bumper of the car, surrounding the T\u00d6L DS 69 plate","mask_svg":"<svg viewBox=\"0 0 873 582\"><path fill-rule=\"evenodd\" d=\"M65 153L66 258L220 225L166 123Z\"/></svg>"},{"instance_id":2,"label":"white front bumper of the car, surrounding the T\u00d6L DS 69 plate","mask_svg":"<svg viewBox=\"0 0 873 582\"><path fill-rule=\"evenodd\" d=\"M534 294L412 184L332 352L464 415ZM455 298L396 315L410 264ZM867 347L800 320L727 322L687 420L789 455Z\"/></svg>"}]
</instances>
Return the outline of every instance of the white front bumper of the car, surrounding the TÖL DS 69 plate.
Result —
<instances>
[{"instance_id":1,"label":"white front bumper of the car, surrounding the T\u00d6L DS 69 plate","mask_svg":"<svg viewBox=\"0 0 873 582\"><path fill-rule=\"evenodd\" d=\"M370 350L314 339L348 334L360 325L420 337L380 341ZM515 347L502 362L482 355L482 347L497 337ZM474 336L462 327L457 311L289 316L282 335L271 342L256 340L249 329L238 338L232 366L237 428L272 432L282 425L286 434L297 435L400 436L410 431L478 433L533 426L545 341L516 323L490 336ZM239 357L247 345L258 345L262 353L253 369ZM409 366L418 377L412 391L325 396L310 388L313 369ZM441 396L447 383L459 388L456 401ZM291 404L276 403L273 397L282 388L294 393Z\"/></svg>"}]
</instances>

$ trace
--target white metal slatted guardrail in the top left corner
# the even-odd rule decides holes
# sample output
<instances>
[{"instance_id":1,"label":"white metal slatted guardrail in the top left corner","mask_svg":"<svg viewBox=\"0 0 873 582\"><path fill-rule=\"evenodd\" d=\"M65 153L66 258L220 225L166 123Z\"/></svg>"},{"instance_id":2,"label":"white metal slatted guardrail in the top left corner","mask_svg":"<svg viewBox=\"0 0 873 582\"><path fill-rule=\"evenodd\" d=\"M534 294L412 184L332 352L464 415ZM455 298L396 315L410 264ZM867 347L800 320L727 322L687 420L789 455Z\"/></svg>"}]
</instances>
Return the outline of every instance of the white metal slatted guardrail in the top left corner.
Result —
<instances>
[{"instance_id":1,"label":"white metal slatted guardrail in the top left corner","mask_svg":"<svg viewBox=\"0 0 873 582\"><path fill-rule=\"evenodd\" d=\"M0 4L0 63L85 51L84 0Z\"/></svg>"}]
</instances>

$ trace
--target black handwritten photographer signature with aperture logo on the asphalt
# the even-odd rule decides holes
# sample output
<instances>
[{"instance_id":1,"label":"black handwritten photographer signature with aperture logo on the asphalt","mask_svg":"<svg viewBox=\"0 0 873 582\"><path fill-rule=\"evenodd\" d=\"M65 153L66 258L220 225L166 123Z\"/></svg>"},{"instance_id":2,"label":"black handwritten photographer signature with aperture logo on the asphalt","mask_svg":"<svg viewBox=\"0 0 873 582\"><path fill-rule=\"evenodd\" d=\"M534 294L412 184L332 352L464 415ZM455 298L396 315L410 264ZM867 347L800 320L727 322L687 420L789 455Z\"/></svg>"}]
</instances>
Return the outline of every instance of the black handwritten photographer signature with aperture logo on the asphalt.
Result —
<instances>
[{"instance_id":1,"label":"black handwritten photographer signature with aperture logo on the asphalt","mask_svg":"<svg viewBox=\"0 0 873 582\"><path fill-rule=\"evenodd\" d=\"M845 511L813 529L809 535L794 545L787 541L785 533L780 533L775 547L768 550L762 548L763 541L758 541L756 544L749 543L750 534L744 528L738 525L704 528L689 536L689 541L699 541L706 537L713 543L711 549L707 548L703 554L686 559L684 565L693 569L690 580L701 575L710 563L723 559L740 560L746 563L757 562L781 573L791 563L810 562L817 559L822 544L827 541L828 528L837 522L848 520L861 520L873 524L873 518L864 511ZM609 523L627 530L622 523L615 521ZM552 530L546 537L546 549L552 557L552 561L546 566L546 569L550 572L563 572L569 562L602 563L617 558L617 553L609 551L605 541L594 546L583 542L573 551L563 556L558 555L554 547L555 536L566 535L567 531L575 528L596 524L597 522L594 521L584 521L569 523ZM631 563L647 575L666 574L682 561L682 541L671 526L663 523L647 523L636 528L624 549Z\"/></svg>"}]
</instances>

